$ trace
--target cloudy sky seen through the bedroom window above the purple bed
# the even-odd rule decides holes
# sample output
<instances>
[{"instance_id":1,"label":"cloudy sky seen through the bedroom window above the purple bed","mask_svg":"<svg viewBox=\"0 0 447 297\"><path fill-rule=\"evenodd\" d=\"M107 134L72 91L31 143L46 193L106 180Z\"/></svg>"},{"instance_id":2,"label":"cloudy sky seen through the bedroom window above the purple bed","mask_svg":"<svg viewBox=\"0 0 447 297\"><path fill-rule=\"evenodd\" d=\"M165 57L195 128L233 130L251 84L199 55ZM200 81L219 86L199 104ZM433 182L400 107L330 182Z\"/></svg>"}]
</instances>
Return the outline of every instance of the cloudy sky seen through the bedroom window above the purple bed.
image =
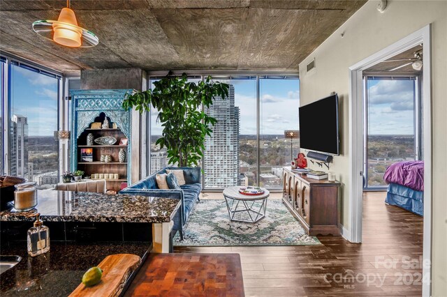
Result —
<instances>
[{"instance_id":1,"label":"cloudy sky seen through the bedroom window above the purple bed","mask_svg":"<svg viewBox=\"0 0 447 297\"><path fill-rule=\"evenodd\" d=\"M414 80L368 80L369 135L413 135L414 84Z\"/></svg>"}]
</instances>

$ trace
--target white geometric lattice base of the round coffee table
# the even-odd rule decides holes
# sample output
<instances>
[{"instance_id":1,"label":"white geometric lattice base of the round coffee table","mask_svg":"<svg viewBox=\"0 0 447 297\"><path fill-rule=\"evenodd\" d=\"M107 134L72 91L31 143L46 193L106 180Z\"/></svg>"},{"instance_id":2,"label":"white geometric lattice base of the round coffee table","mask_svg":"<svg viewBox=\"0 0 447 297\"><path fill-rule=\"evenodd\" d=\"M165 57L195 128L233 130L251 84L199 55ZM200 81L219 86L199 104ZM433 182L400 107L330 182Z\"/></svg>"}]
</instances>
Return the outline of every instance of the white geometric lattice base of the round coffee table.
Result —
<instances>
[{"instance_id":1,"label":"white geometric lattice base of the round coffee table","mask_svg":"<svg viewBox=\"0 0 447 297\"><path fill-rule=\"evenodd\" d=\"M267 207L267 198L260 198L256 200L240 200L233 197L225 197L226 208L228 210L228 215L230 215L230 220L233 222L258 222L262 218L265 218L265 208ZM261 201L260 201L261 200ZM241 209L237 207L242 202ZM261 205L256 205L261 204ZM257 208L257 209L256 209ZM239 220L235 219L235 213L247 213L250 220Z\"/></svg>"}]
</instances>

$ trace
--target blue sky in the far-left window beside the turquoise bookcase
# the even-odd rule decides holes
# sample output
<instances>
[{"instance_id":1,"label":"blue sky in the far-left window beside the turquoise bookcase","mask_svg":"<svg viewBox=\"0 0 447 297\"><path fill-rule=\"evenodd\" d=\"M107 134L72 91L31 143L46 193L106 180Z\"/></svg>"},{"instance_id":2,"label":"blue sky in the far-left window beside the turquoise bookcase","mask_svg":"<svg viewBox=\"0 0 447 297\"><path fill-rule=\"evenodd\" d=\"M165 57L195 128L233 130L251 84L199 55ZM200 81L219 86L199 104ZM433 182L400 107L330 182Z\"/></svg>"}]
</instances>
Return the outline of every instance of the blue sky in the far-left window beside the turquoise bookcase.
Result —
<instances>
[{"instance_id":1,"label":"blue sky in the far-left window beside the turquoise bookcase","mask_svg":"<svg viewBox=\"0 0 447 297\"><path fill-rule=\"evenodd\" d=\"M52 136L57 130L58 79L11 66L11 116L27 116L29 136Z\"/></svg>"}]
</instances>

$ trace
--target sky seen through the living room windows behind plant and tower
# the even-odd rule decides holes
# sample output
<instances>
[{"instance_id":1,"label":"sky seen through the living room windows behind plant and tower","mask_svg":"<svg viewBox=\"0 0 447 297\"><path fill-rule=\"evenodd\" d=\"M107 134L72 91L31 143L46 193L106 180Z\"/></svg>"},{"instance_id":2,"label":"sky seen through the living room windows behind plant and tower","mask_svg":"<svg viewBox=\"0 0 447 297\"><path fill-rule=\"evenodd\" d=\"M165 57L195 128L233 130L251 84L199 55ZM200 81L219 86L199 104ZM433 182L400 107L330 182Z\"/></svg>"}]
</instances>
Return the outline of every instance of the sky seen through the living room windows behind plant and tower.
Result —
<instances>
[{"instance_id":1,"label":"sky seen through the living room windows behind plant and tower","mask_svg":"<svg viewBox=\"0 0 447 297\"><path fill-rule=\"evenodd\" d=\"M240 134L256 135L256 79L217 79L235 87L235 106L240 108ZM298 130L300 83L298 79L261 79L261 135L283 135ZM161 135L152 111L152 134Z\"/></svg>"}]
</instances>

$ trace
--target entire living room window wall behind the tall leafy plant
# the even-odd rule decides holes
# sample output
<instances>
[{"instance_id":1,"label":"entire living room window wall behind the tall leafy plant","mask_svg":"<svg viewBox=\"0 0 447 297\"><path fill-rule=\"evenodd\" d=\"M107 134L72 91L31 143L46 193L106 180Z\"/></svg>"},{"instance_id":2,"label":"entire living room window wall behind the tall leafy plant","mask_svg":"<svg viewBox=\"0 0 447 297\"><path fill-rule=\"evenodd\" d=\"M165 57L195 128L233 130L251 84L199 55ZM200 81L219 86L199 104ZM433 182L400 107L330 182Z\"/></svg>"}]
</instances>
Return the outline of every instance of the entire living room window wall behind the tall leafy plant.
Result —
<instances>
[{"instance_id":1,"label":"entire living room window wall behind the tall leafy plant","mask_svg":"<svg viewBox=\"0 0 447 297\"><path fill-rule=\"evenodd\" d=\"M284 130L298 130L298 77L212 75L214 81L230 84L229 97L217 98L207 114L218 120L205 141L203 187L222 189L231 185L261 185L281 188L282 167L290 165L291 142ZM158 78L152 77L151 84ZM199 77L191 77L198 82ZM153 84L152 84L153 87ZM259 112L258 112L259 111ZM166 148L155 144L162 127L152 109L151 173L166 167ZM293 139L293 155L299 140Z\"/></svg>"}]
</instances>

